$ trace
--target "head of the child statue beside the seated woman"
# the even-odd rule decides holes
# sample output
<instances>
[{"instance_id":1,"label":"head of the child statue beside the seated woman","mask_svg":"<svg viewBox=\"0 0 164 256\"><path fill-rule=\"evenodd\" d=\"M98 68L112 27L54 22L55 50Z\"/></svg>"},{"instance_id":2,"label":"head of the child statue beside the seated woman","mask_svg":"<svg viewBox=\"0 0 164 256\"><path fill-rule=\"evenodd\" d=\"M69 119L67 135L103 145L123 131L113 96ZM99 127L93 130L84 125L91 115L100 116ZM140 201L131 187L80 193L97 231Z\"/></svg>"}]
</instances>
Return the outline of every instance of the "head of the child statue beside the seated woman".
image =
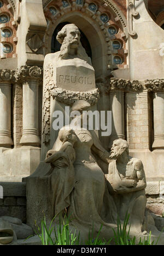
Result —
<instances>
[{"instance_id":1,"label":"head of the child statue beside the seated woman","mask_svg":"<svg viewBox=\"0 0 164 256\"><path fill-rule=\"evenodd\" d=\"M77 140L74 130L71 127L62 127L58 132L58 137L62 141L62 143L65 143L68 140L73 142Z\"/></svg>"}]
</instances>

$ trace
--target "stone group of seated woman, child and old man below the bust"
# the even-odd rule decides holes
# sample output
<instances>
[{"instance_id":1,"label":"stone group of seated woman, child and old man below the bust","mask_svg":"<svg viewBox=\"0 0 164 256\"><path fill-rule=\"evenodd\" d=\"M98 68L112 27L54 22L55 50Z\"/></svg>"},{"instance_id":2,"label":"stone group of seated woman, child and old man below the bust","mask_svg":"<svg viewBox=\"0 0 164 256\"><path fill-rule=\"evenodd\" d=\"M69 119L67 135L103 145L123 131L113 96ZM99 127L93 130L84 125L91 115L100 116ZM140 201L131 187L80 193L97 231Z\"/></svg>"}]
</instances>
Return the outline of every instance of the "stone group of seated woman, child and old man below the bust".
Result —
<instances>
[{"instance_id":1,"label":"stone group of seated woman, child and old man below the bust","mask_svg":"<svg viewBox=\"0 0 164 256\"><path fill-rule=\"evenodd\" d=\"M80 111L83 118L88 105L79 100L72 110ZM107 175L101 161L108 164ZM115 140L108 152L93 130L62 127L45 162L51 164L52 217L67 213L80 230L94 223L98 231L103 224L102 232L109 237L118 215L124 221L128 211L131 229L143 231L145 174L142 162L128 155L126 140Z\"/></svg>"}]
</instances>

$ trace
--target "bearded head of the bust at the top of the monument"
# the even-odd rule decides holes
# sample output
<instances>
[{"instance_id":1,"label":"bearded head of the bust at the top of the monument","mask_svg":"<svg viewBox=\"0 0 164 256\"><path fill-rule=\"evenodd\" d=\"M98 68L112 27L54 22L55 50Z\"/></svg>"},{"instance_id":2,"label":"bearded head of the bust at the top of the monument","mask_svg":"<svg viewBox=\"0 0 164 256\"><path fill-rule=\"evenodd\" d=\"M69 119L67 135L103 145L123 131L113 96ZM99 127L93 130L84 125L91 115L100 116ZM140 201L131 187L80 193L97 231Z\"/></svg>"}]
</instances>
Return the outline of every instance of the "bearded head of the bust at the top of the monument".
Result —
<instances>
[{"instance_id":1,"label":"bearded head of the bust at the top of the monument","mask_svg":"<svg viewBox=\"0 0 164 256\"><path fill-rule=\"evenodd\" d=\"M80 42L80 31L75 24L65 25L60 32L58 32L57 41L61 43L59 59L67 59L71 49L74 49L77 58L88 61L85 49Z\"/></svg>"}]
</instances>

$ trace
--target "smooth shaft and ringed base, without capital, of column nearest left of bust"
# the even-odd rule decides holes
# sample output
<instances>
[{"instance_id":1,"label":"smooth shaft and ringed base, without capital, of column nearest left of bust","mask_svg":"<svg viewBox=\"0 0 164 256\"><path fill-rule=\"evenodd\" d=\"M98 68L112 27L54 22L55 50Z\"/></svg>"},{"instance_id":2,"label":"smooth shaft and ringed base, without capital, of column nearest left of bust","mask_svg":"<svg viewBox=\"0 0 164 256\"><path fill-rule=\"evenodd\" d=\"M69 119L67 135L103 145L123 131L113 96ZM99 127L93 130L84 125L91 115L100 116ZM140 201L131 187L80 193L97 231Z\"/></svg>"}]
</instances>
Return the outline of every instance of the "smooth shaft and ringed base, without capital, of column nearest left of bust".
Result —
<instances>
[{"instance_id":1,"label":"smooth shaft and ringed base, without capital, of column nearest left of bust","mask_svg":"<svg viewBox=\"0 0 164 256\"><path fill-rule=\"evenodd\" d=\"M21 145L39 146L38 131L38 81L23 82L23 129Z\"/></svg>"}]
</instances>

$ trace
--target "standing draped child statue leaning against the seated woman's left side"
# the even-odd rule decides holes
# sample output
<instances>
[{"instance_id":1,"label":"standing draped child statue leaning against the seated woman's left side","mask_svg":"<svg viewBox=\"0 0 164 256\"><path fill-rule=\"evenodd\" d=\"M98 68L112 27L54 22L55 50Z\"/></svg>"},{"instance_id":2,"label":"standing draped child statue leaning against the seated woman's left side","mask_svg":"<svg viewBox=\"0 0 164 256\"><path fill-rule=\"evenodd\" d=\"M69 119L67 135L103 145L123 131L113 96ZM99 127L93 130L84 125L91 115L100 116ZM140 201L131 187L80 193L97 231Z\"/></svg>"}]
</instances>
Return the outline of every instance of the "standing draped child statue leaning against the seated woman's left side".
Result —
<instances>
[{"instance_id":1,"label":"standing draped child statue leaning against the seated woman's left side","mask_svg":"<svg viewBox=\"0 0 164 256\"><path fill-rule=\"evenodd\" d=\"M70 205L71 192L74 189L75 175L73 162L75 161L74 143L77 135L71 128L63 127L58 133L62 141L59 151L49 150L46 154L46 163L51 163L50 198L52 205L52 218L63 218Z\"/></svg>"}]
</instances>

